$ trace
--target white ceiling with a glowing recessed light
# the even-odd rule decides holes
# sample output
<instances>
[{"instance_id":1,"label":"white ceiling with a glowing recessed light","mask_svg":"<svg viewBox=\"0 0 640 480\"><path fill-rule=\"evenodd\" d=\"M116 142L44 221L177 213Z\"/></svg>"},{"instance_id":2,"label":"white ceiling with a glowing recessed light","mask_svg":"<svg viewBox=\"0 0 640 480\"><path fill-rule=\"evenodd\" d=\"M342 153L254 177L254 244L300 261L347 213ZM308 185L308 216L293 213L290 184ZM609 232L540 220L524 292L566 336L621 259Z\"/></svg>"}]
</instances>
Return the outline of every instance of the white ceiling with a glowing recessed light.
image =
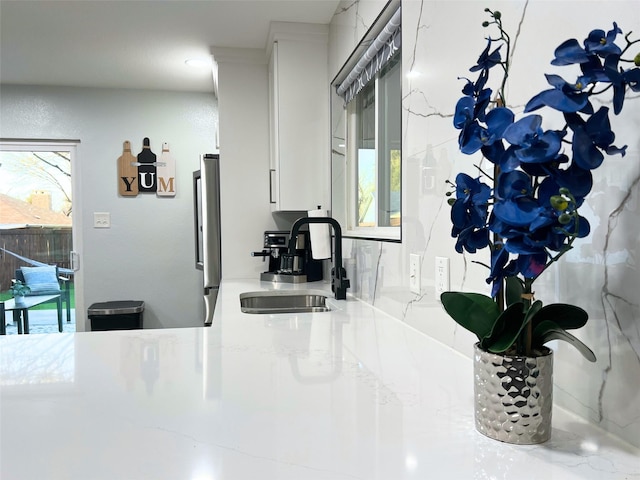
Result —
<instances>
[{"instance_id":1,"label":"white ceiling with a glowing recessed light","mask_svg":"<svg viewBox=\"0 0 640 480\"><path fill-rule=\"evenodd\" d=\"M213 92L210 47L266 47L271 21L339 0L0 0L0 83Z\"/></svg>"}]
</instances>

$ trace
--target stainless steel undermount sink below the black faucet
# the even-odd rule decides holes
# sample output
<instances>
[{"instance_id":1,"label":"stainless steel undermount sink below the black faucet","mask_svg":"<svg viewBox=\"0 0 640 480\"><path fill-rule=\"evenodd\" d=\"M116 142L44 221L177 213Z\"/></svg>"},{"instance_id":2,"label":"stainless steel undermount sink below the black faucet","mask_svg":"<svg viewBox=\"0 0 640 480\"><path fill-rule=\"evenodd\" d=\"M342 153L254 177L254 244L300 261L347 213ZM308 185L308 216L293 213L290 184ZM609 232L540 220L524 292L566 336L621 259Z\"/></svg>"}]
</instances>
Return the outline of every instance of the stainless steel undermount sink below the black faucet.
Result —
<instances>
[{"instance_id":1,"label":"stainless steel undermount sink below the black faucet","mask_svg":"<svg viewBox=\"0 0 640 480\"><path fill-rule=\"evenodd\" d=\"M327 297L318 292L259 291L240 294L244 313L328 312Z\"/></svg>"}]
</instances>

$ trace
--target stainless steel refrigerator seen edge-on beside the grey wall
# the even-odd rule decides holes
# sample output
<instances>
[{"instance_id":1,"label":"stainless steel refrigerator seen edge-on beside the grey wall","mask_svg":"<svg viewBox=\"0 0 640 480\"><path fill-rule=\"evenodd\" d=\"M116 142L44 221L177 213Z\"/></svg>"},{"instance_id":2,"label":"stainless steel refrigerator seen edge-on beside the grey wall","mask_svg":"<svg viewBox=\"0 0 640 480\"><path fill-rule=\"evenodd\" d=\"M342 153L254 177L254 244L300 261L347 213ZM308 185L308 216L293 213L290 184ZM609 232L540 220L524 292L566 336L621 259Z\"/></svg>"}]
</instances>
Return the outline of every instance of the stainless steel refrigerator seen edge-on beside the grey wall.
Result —
<instances>
[{"instance_id":1,"label":"stainless steel refrigerator seen edge-on beside the grey wall","mask_svg":"<svg viewBox=\"0 0 640 480\"><path fill-rule=\"evenodd\" d=\"M204 279L204 324L213 322L221 278L220 155L200 156L200 170L193 172L196 268Z\"/></svg>"}]
</instances>

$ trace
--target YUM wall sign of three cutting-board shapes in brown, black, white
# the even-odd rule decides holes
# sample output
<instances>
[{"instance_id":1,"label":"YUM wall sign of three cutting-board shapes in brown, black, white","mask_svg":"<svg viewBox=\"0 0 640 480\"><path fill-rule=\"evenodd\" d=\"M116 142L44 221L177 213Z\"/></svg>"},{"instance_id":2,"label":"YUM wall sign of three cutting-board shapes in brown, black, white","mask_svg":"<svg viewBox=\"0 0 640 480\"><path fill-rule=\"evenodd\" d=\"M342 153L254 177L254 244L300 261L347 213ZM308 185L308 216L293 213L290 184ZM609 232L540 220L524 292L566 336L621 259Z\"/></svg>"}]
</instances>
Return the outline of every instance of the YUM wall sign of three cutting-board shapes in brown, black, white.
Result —
<instances>
[{"instance_id":1,"label":"YUM wall sign of three cutting-board shapes in brown, black, white","mask_svg":"<svg viewBox=\"0 0 640 480\"><path fill-rule=\"evenodd\" d=\"M131 153L131 142L122 144L118 158L118 193L123 197L135 197L138 193L155 193L159 197L176 195L176 162L169 153L169 144L162 144L162 153L156 161L149 139L142 141L142 151L137 157Z\"/></svg>"}]
</instances>

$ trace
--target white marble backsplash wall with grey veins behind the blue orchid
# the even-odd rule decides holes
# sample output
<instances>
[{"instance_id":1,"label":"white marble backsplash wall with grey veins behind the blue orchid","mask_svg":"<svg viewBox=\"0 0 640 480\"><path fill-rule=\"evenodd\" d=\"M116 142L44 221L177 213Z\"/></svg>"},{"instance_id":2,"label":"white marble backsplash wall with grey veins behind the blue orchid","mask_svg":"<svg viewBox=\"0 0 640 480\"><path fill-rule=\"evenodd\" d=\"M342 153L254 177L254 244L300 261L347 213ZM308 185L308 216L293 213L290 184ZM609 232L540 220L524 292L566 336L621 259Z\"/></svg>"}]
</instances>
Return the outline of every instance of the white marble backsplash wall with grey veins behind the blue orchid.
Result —
<instances>
[{"instance_id":1,"label":"white marble backsplash wall with grey veins behind the blue orchid","mask_svg":"<svg viewBox=\"0 0 640 480\"><path fill-rule=\"evenodd\" d=\"M330 25L330 76L386 3L340 4ZM477 175L473 164L482 160L458 151L452 117L463 85L457 78L468 74L485 45L485 7L502 12L515 41L507 98L516 114L547 88L544 73L556 73L549 62L564 40L582 42L592 29L610 30L614 21L625 33L637 32L632 38L640 35L634 1L402 1L402 243L345 239L343 252L351 293L468 356L475 337L443 311L434 272L435 258L447 257L452 290L488 293L486 269L472 262L488 259L455 252L445 197L445 181L460 171ZM565 67L557 73L567 72ZM594 172L581 210L591 234L535 290L544 303L587 310L589 323L576 335L598 358L589 363L563 342L550 344L556 351L556 403L640 446L640 94L628 95L626 102L612 129L615 144L628 145L627 155L606 158ZM409 290L410 254L422 256L420 294ZM469 372L461 381L471 377Z\"/></svg>"}]
</instances>

